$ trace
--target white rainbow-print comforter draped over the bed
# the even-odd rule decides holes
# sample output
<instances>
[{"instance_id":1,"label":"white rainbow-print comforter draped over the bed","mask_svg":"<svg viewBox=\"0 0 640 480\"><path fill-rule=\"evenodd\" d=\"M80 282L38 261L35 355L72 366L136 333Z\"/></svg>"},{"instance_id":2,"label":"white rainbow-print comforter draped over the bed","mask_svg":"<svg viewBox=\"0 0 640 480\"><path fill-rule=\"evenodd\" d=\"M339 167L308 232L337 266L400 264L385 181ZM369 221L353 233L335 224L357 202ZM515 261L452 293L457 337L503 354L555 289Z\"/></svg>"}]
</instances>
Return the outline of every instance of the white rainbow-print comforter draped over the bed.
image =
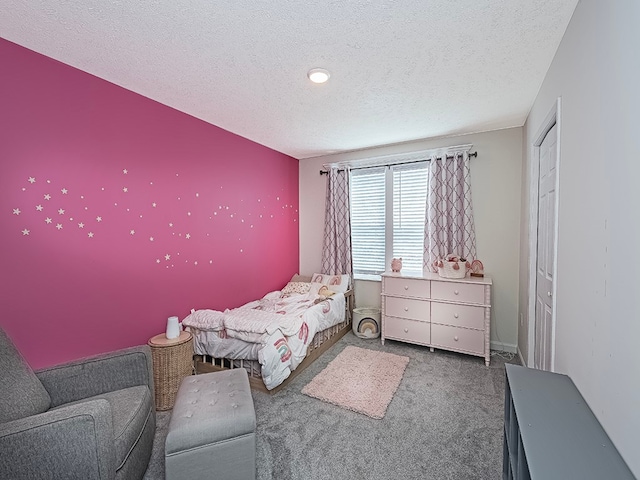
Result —
<instances>
[{"instance_id":1,"label":"white rainbow-print comforter draped over the bed","mask_svg":"<svg viewBox=\"0 0 640 480\"><path fill-rule=\"evenodd\" d=\"M344 320L345 297L315 294L280 298L280 291L239 308L197 310L183 320L194 335L195 353L215 358L258 360L271 390L280 385L307 354L320 330Z\"/></svg>"}]
</instances>

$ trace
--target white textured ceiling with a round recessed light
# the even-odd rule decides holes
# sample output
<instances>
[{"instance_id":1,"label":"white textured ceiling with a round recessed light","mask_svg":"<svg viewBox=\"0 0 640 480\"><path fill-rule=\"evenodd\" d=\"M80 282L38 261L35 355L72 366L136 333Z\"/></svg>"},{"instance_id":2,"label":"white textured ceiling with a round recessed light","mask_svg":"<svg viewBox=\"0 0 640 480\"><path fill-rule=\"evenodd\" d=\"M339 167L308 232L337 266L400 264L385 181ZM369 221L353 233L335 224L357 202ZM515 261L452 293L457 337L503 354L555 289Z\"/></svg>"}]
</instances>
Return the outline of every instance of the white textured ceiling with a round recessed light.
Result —
<instances>
[{"instance_id":1,"label":"white textured ceiling with a round recessed light","mask_svg":"<svg viewBox=\"0 0 640 480\"><path fill-rule=\"evenodd\" d=\"M307 158L522 125L577 2L2 0L0 37Z\"/></svg>"}]
</instances>

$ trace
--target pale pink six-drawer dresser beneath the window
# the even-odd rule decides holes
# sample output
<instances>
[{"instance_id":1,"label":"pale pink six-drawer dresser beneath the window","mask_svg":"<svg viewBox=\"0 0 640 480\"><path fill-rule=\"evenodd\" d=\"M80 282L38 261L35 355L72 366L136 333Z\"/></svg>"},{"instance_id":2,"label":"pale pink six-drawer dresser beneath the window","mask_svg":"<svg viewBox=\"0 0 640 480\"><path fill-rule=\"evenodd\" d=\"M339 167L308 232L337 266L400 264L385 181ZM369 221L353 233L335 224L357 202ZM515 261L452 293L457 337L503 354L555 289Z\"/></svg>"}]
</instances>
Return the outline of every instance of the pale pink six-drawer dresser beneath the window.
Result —
<instances>
[{"instance_id":1,"label":"pale pink six-drawer dresser beneath the window","mask_svg":"<svg viewBox=\"0 0 640 480\"><path fill-rule=\"evenodd\" d=\"M491 351L491 279L443 278L435 273L382 275L385 339L484 357Z\"/></svg>"}]
</instances>

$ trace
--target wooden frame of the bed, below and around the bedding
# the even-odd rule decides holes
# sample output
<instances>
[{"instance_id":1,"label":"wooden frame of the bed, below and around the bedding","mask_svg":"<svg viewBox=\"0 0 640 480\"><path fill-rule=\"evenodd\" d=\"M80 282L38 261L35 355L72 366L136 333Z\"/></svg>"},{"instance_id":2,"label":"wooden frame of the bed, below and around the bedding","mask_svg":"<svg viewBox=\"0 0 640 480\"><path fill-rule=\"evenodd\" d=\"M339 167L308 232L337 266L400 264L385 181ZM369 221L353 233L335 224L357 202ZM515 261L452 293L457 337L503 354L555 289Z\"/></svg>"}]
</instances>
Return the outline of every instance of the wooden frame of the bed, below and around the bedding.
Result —
<instances>
[{"instance_id":1,"label":"wooden frame of the bed, below and around the bedding","mask_svg":"<svg viewBox=\"0 0 640 480\"><path fill-rule=\"evenodd\" d=\"M333 327L317 332L307 350L307 356L291 372L291 375L273 390L268 390L262 381L261 365L258 360L231 360L228 358L215 358L210 355L194 355L193 364L196 374L219 372L221 370L231 370L234 368L244 368L249 374L249 384L254 390L265 393L276 393L286 387L295 377L297 377L304 369L311 365L320 355L331 348L338 340L340 340L349 330L351 330L352 313L354 306L353 290L345 292L345 320Z\"/></svg>"}]
</instances>

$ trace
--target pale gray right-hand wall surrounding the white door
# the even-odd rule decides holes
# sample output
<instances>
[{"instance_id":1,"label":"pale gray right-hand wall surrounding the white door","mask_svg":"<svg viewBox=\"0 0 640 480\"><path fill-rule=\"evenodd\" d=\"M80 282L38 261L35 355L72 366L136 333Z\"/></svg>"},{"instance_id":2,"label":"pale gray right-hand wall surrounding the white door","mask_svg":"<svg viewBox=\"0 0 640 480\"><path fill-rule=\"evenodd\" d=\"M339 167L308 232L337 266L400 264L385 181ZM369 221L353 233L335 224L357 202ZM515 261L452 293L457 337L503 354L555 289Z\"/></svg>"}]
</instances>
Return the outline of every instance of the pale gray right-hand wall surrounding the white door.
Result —
<instances>
[{"instance_id":1,"label":"pale gray right-hand wall surrounding the white door","mask_svg":"<svg viewBox=\"0 0 640 480\"><path fill-rule=\"evenodd\" d=\"M556 371L573 379L638 477L639 20L637 0L579 2L524 138L528 172L534 136L561 97ZM520 273L525 315L527 275Z\"/></svg>"}]
</instances>

